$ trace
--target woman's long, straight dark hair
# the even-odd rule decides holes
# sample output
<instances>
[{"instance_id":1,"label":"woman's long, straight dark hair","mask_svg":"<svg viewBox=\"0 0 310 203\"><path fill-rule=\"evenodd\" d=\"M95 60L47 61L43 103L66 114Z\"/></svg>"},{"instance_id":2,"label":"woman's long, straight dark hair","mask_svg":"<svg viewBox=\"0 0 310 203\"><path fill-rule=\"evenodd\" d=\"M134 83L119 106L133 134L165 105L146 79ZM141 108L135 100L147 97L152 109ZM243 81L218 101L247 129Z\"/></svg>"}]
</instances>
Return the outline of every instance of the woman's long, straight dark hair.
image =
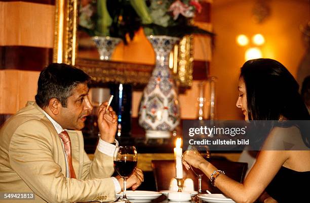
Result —
<instances>
[{"instance_id":1,"label":"woman's long, straight dark hair","mask_svg":"<svg viewBox=\"0 0 310 203\"><path fill-rule=\"evenodd\" d=\"M241 68L240 79L243 79L246 87L248 118L258 120L257 123L262 121L260 123L263 126L259 124L262 134L279 125L276 122L281 118L310 120L298 92L297 81L280 62L272 59L249 60ZM263 121L267 120L275 122L267 122L266 126L267 123ZM309 127L304 122L296 123L294 125L300 129L304 143L310 147Z\"/></svg>"}]
</instances>

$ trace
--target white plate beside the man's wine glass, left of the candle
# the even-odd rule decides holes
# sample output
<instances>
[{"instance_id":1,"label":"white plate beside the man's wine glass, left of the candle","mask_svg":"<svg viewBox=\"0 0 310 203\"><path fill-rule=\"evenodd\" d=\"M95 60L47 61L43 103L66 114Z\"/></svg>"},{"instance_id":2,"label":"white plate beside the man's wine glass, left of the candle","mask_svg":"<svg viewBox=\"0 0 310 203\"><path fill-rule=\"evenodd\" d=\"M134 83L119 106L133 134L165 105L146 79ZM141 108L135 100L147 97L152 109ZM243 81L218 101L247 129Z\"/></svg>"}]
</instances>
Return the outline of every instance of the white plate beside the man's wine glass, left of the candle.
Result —
<instances>
[{"instance_id":1,"label":"white plate beside the man's wine glass, left of the candle","mask_svg":"<svg viewBox=\"0 0 310 203\"><path fill-rule=\"evenodd\" d=\"M117 197L123 195L123 192L116 194ZM161 196L161 192L154 192L154 191L143 191L143 190L127 190L126 196L129 200L134 200L135 202L149 202L149 200L156 199L157 197Z\"/></svg>"}]
</instances>

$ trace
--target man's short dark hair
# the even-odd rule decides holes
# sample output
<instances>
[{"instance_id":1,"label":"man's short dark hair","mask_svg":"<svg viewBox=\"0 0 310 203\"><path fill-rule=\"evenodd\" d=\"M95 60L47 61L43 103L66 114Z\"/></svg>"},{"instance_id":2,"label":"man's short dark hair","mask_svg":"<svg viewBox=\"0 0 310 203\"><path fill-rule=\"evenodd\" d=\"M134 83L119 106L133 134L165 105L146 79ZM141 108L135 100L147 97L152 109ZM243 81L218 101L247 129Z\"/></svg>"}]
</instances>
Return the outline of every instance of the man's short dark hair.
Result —
<instances>
[{"instance_id":1,"label":"man's short dark hair","mask_svg":"<svg viewBox=\"0 0 310 203\"><path fill-rule=\"evenodd\" d=\"M67 64L50 64L44 68L37 81L35 102L39 107L48 106L51 98L57 98L67 107L67 98L80 83L89 83L90 77L81 69Z\"/></svg>"}]
</instances>

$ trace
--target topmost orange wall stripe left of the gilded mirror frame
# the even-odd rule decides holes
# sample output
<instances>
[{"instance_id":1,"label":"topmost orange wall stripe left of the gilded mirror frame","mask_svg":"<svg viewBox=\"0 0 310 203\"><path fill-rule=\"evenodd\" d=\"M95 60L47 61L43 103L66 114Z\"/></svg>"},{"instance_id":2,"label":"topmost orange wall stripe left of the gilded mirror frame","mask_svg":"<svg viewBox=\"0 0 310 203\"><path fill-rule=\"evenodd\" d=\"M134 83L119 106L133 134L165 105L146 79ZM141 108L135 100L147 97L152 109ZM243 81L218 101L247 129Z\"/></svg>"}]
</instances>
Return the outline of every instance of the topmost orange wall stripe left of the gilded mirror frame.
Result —
<instances>
[{"instance_id":1,"label":"topmost orange wall stripe left of the gilded mirror frame","mask_svg":"<svg viewBox=\"0 0 310 203\"><path fill-rule=\"evenodd\" d=\"M0 46L53 48L55 6L0 2Z\"/></svg>"}]
</instances>

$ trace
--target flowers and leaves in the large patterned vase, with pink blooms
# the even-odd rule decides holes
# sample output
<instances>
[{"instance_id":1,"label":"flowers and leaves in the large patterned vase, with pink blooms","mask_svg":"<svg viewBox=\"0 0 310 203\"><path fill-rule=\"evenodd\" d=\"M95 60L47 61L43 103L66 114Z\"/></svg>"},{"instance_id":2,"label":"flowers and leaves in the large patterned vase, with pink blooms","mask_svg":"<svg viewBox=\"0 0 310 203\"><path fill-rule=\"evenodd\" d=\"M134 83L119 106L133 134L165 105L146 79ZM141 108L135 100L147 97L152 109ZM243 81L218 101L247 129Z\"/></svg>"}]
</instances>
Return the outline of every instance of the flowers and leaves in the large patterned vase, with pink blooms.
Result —
<instances>
[{"instance_id":1,"label":"flowers and leaves in the large patterned vase, with pink blooms","mask_svg":"<svg viewBox=\"0 0 310 203\"><path fill-rule=\"evenodd\" d=\"M191 23L195 14L202 11L198 0L130 0L130 3L140 16L146 35L214 35Z\"/></svg>"}]
</instances>

